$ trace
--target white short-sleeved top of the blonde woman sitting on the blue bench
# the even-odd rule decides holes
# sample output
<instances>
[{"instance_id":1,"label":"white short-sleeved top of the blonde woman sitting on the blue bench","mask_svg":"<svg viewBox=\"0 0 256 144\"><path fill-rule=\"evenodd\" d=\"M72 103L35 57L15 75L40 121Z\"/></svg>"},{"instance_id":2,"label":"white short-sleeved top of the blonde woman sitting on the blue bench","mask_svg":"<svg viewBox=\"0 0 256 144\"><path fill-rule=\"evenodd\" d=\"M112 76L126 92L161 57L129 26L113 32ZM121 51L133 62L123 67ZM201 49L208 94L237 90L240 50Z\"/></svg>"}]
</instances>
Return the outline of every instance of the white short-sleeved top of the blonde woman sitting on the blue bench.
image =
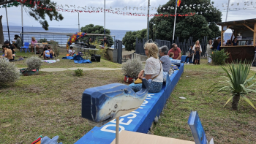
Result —
<instances>
[{"instance_id":1,"label":"white short-sleeved top of the blonde woman sitting on the blue bench","mask_svg":"<svg viewBox=\"0 0 256 144\"><path fill-rule=\"evenodd\" d=\"M161 72L160 72L161 69ZM146 75L152 75L151 77L155 77L154 78L154 82L163 82L163 69L162 69L162 64L160 64L159 59L154 58L154 57L150 57L146 60L146 65L145 65L145 69L144 72ZM160 72L160 74L159 74Z\"/></svg>"}]
</instances>

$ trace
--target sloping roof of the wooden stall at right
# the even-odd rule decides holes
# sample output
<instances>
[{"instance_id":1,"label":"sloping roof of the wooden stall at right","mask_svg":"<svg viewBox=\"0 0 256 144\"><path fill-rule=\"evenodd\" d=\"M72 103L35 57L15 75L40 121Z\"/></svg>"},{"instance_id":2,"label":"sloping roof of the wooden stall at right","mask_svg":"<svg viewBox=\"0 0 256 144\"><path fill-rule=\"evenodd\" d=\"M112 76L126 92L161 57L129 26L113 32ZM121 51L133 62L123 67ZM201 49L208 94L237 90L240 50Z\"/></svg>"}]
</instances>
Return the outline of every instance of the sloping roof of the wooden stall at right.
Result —
<instances>
[{"instance_id":1,"label":"sloping roof of the wooden stall at right","mask_svg":"<svg viewBox=\"0 0 256 144\"><path fill-rule=\"evenodd\" d=\"M246 26L254 29L254 24L256 23L256 18L248 20L236 20L236 21L227 21L222 23L216 23L219 26L230 26L229 29L247 29ZM246 24L246 26L244 26Z\"/></svg>"}]
</instances>

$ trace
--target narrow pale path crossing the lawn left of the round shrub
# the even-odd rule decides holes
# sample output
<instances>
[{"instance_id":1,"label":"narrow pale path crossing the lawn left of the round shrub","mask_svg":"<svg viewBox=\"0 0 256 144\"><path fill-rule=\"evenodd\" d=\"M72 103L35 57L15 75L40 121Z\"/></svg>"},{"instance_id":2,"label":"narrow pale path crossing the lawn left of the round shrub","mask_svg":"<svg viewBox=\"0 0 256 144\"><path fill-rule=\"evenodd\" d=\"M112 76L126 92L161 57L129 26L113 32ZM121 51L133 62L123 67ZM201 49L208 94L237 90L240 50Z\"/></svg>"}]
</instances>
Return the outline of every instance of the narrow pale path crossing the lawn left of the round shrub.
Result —
<instances>
[{"instance_id":1,"label":"narrow pale path crossing the lawn left of the round shrub","mask_svg":"<svg viewBox=\"0 0 256 144\"><path fill-rule=\"evenodd\" d=\"M108 68L108 67L94 67L94 68L88 68L88 67L71 67L71 68L45 68L45 69L39 69L39 71L42 72L61 72L65 70L76 70L76 69L83 69L83 70L120 70L121 68Z\"/></svg>"}]
</instances>

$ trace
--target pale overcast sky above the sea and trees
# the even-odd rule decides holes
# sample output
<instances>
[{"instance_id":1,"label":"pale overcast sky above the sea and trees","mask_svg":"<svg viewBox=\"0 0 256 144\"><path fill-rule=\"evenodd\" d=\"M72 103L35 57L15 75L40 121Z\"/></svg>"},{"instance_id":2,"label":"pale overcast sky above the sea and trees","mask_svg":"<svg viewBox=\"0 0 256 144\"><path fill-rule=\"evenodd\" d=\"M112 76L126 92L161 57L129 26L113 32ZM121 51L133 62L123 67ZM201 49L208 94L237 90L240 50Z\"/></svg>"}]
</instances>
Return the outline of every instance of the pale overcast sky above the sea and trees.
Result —
<instances>
[{"instance_id":1,"label":"pale overcast sky above the sea and trees","mask_svg":"<svg viewBox=\"0 0 256 144\"><path fill-rule=\"evenodd\" d=\"M82 8L78 7L104 7L104 0L52 0L55 1L58 5L63 5L64 8L67 8L65 5L69 5L69 9L77 9L82 10ZM151 8L159 7L159 5L166 4L168 0L151 0ZM226 13L223 11L226 7L222 7L222 5L227 6L228 0L211 0L214 1L214 6L219 8L222 11L222 22L225 21ZM124 7L147 7L148 0L106 0L106 8L112 7L115 8L124 8ZM230 0L230 8L243 8L243 7L256 7L256 0L250 0L247 3L243 0ZM83 4L81 4L83 3ZM238 4L239 3L239 4ZM248 4L248 5L247 5ZM76 8L70 7L70 5L75 5ZM175 6L173 6L175 7ZM147 8L146 8L147 9ZM8 7L8 19L10 26L21 26L21 8L20 7ZM88 9L86 9L88 10ZM125 12L139 12L133 10L127 10ZM140 11L143 13L147 13L147 10ZM156 13L157 10L151 10L150 14ZM254 10L239 10L239 11L229 11L227 15L227 21L232 20L244 20L244 19L251 19L255 18ZM50 27L59 27L59 28L77 28L78 29L78 12L61 12L64 16L64 20L61 21L50 21L48 18L48 24ZM0 15L3 15L2 23L4 26L7 26L7 19L6 19L6 12L4 8L0 9ZM104 26L104 13L86 13L80 12L80 27L86 26L88 24L100 25ZM151 17L152 18L152 17ZM23 26L40 26L40 24L31 18L26 12L23 12ZM146 29L147 27L147 17L138 17L138 16L128 16L128 15L116 15L111 13L106 13L105 15L105 27L106 29L116 29L116 30L141 30Z\"/></svg>"}]
</instances>

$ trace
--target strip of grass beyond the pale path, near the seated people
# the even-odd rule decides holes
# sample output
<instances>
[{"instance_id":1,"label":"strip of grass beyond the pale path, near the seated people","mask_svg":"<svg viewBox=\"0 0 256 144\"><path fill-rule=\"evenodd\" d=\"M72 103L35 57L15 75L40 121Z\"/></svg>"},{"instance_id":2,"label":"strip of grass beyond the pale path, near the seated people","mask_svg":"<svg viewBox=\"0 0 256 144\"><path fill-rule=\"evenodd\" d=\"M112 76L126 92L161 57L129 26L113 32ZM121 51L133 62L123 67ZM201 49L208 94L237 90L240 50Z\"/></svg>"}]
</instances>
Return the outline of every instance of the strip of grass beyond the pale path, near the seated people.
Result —
<instances>
[{"instance_id":1,"label":"strip of grass beyond the pale path, near the seated people","mask_svg":"<svg viewBox=\"0 0 256 144\"><path fill-rule=\"evenodd\" d=\"M17 50L18 51L18 50ZM31 56L37 56L34 53L20 53L17 52L15 53L16 57L15 59L18 59L19 56L26 56L26 57L31 57ZM43 63L41 68L70 68L70 67L108 67L108 68L120 68L121 64L118 63L113 63L110 61L105 60L105 58L101 58L100 62L92 62L91 64L75 64L73 60L68 60L68 59L61 59L62 57L66 56L67 53L60 53L60 56L57 57L56 59L60 59L59 62L53 63L53 64L48 64L48 63ZM14 64L17 65L19 68L25 68L26 67L26 59L24 61L15 61L13 62ZM42 58L43 60L43 58Z\"/></svg>"}]
</instances>

